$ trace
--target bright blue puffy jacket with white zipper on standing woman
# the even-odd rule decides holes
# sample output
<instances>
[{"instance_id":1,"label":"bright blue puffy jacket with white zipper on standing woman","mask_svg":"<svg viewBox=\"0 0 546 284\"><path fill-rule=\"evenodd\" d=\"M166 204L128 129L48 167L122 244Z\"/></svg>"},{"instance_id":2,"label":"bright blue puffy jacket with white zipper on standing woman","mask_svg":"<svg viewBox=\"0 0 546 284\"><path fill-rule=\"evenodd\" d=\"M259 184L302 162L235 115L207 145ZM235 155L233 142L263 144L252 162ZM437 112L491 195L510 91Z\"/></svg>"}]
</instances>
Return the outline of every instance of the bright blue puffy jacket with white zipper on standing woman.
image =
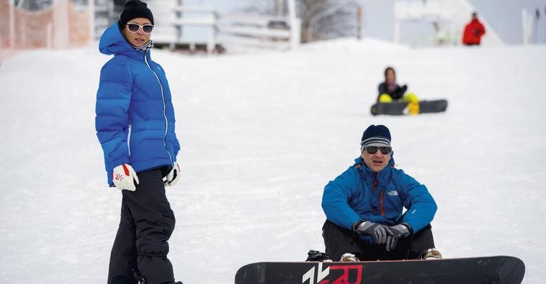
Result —
<instances>
[{"instance_id":1,"label":"bright blue puffy jacket with white zipper on standing woman","mask_svg":"<svg viewBox=\"0 0 546 284\"><path fill-rule=\"evenodd\" d=\"M100 37L99 50L114 55L100 71L95 129L108 184L112 169L129 163L139 173L172 167L180 145L174 133L171 91L150 50L135 50L114 23Z\"/></svg>"}]
</instances>

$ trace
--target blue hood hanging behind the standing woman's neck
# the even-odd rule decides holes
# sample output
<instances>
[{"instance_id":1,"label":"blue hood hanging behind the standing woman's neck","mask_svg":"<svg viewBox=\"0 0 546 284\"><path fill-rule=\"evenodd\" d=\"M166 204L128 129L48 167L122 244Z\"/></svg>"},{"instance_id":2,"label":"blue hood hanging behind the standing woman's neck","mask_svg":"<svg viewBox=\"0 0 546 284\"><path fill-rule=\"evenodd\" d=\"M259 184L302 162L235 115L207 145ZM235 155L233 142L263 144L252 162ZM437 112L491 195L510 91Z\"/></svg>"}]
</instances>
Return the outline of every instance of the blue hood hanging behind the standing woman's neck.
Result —
<instances>
[{"instance_id":1,"label":"blue hood hanging behind the standing woman's neck","mask_svg":"<svg viewBox=\"0 0 546 284\"><path fill-rule=\"evenodd\" d=\"M124 38L117 22L109 26L100 36L99 50L105 55L123 54L133 58L142 58L141 51L134 49Z\"/></svg>"}]
</instances>

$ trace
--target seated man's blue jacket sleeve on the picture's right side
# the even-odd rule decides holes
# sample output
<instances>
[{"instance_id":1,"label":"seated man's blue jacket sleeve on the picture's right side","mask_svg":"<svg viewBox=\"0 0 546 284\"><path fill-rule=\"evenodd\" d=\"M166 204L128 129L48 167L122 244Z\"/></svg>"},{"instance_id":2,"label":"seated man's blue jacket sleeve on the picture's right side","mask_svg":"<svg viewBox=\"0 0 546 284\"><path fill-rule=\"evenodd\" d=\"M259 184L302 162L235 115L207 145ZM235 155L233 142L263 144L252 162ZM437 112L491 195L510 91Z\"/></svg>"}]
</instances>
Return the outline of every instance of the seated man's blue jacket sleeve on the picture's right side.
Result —
<instances>
[{"instance_id":1,"label":"seated man's blue jacket sleeve on the picture's right side","mask_svg":"<svg viewBox=\"0 0 546 284\"><path fill-rule=\"evenodd\" d=\"M397 176L397 184L403 189L402 202L407 209L402 222L409 224L413 231L417 232L432 222L438 208L437 204L427 187L402 170Z\"/></svg>"}]
</instances>

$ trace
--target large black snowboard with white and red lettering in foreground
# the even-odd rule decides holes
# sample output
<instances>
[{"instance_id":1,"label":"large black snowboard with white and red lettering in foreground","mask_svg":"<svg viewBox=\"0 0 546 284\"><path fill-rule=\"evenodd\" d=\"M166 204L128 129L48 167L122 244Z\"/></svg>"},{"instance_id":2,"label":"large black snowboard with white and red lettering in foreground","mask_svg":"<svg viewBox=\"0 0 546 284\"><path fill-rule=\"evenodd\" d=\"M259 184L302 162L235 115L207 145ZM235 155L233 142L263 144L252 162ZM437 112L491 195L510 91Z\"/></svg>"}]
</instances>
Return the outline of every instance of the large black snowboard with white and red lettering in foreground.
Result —
<instances>
[{"instance_id":1,"label":"large black snowboard with white and red lettering in foreground","mask_svg":"<svg viewBox=\"0 0 546 284\"><path fill-rule=\"evenodd\" d=\"M519 284L525 265L513 256L417 261L261 262L237 271L235 284Z\"/></svg>"}]
</instances>

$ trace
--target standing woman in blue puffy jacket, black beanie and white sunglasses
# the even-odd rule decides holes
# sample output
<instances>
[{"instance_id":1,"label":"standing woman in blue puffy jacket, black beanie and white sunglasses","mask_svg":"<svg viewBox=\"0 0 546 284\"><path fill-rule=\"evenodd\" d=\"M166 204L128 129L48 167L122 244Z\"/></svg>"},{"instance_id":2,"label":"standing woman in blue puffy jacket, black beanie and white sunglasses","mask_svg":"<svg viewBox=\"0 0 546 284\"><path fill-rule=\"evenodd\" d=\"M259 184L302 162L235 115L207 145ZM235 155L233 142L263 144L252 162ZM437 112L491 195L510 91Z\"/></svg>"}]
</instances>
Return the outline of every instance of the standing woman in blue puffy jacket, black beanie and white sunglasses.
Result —
<instances>
[{"instance_id":1,"label":"standing woman in blue puffy jacket, black beanie and white sunglasses","mask_svg":"<svg viewBox=\"0 0 546 284\"><path fill-rule=\"evenodd\" d=\"M180 145L165 72L150 58L153 29L146 4L129 0L100 37L100 52L114 58L100 72L95 127L108 183L122 192L108 284L176 284L167 258L175 219L165 187L178 181Z\"/></svg>"}]
</instances>

